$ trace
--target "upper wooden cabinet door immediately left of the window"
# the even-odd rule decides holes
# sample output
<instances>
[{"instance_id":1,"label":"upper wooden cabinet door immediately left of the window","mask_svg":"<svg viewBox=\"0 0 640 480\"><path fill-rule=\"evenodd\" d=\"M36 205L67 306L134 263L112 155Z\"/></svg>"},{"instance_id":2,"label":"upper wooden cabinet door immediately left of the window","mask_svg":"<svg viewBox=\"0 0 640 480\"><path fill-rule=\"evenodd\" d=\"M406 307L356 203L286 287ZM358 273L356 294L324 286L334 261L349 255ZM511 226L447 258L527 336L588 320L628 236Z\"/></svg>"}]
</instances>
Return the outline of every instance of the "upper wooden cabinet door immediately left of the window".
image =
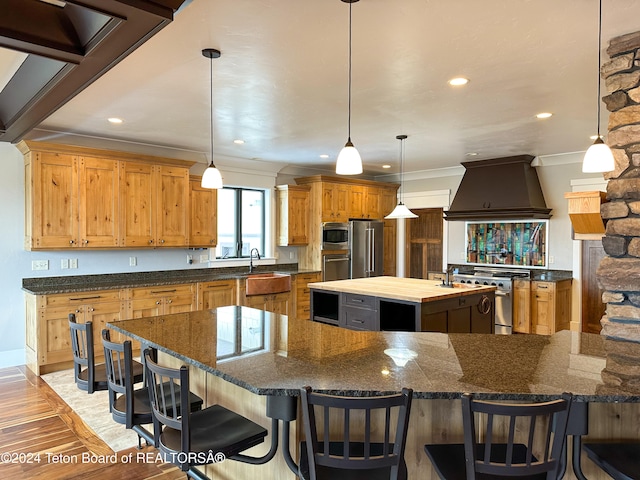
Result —
<instances>
[{"instance_id":1,"label":"upper wooden cabinet door immediately left of the window","mask_svg":"<svg viewBox=\"0 0 640 480\"><path fill-rule=\"evenodd\" d=\"M218 243L218 191L202 188L201 179L189 181L191 191L189 245L192 247L215 247Z\"/></svg>"}]
</instances>

